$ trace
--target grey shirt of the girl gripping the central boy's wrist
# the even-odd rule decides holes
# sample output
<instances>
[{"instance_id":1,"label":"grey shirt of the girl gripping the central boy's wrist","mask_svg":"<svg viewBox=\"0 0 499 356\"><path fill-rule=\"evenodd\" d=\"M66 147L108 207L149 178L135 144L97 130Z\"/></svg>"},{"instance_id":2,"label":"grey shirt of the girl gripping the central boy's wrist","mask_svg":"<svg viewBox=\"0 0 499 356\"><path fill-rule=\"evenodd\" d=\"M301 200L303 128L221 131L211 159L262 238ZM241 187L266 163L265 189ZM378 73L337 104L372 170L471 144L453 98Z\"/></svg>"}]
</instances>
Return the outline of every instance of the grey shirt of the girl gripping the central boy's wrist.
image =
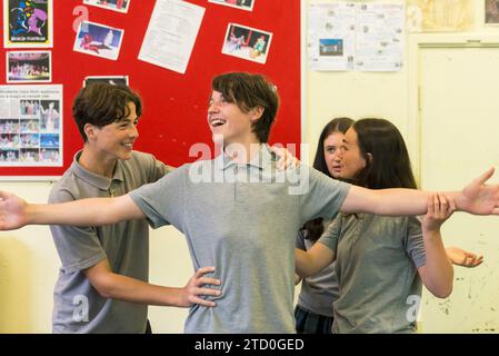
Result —
<instances>
[{"instance_id":1,"label":"grey shirt of the girl gripping the central boy's wrist","mask_svg":"<svg viewBox=\"0 0 499 356\"><path fill-rule=\"evenodd\" d=\"M418 218L340 214L318 243L337 255L333 333L416 332L417 268L426 265Z\"/></svg>"}]
</instances>

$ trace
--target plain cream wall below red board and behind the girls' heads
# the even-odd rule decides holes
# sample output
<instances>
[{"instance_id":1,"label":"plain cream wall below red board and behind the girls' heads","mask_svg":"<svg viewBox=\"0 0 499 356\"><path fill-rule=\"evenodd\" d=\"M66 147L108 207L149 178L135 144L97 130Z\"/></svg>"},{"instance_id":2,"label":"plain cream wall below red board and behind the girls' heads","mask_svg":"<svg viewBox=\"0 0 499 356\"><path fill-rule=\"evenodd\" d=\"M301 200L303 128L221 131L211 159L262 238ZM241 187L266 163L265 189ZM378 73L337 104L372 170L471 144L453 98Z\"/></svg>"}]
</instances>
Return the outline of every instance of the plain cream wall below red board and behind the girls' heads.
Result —
<instances>
[{"instance_id":1,"label":"plain cream wall below red board and behind the girls' heads","mask_svg":"<svg viewBox=\"0 0 499 356\"><path fill-rule=\"evenodd\" d=\"M306 0L305 4L312 2L320 1ZM476 6L477 23L481 23L482 1L472 2ZM473 36L480 37L486 32L499 34L499 29L485 29L477 24ZM401 72L306 70L303 138L305 142L312 145L310 155L313 155L322 126L336 116L388 118L406 136L411 155L415 155L418 136L411 129L415 128L413 92L417 83L411 73L417 66L417 58L411 46L435 34L409 36L407 52L410 56L406 57L406 67ZM49 182L1 184L1 189L33 202L44 202L50 188ZM0 333L50 333L52 289L59 264L47 227L36 226L0 233ZM172 228L161 228L152 233L151 283L181 286L190 277L191 268L181 234ZM183 309L150 309L150 318L158 333L181 333L186 315L187 310Z\"/></svg>"}]
</instances>

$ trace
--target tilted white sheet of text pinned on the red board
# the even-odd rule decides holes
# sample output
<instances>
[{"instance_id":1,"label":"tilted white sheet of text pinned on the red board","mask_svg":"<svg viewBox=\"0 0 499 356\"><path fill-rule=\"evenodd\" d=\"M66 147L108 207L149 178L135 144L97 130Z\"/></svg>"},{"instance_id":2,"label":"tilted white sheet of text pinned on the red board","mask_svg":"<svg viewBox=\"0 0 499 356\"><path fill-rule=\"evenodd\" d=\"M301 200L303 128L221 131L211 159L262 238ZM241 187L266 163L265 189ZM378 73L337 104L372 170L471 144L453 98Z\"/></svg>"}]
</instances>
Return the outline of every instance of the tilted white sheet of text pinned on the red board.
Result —
<instances>
[{"instance_id":1,"label":"tilted white sheet of text pinned on the red board","mask_svg":"<svg viewBox=\"0 0 499 356\"><path fill-rule=\"evenodd\" d=\"M184 73L204 8L180 0L157 0L139 59Z\"/></svg>"}]
</instances>

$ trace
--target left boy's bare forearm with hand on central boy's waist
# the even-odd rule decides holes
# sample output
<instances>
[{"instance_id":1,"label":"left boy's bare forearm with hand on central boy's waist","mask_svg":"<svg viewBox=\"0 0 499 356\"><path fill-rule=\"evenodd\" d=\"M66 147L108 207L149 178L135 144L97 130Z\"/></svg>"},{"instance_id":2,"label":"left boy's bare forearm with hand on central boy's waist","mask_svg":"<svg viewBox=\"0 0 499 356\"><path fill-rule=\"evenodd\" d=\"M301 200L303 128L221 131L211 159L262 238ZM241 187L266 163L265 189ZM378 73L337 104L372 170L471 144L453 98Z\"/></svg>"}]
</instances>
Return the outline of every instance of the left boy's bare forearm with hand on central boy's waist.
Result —
<instances>
[{"instance_id":1,"label":"left boy's bare forearm with hand on central boy's waist","mask_svg":"<svg viewBox=\"0 0 499 356\"><path fill-rule=\"evenodd\" d=\"M219 286L220 280L206 277L214 267L203 267L196 271L183 288L163 287L118 275L111 271L107 259L88 268L84 273L90 284L103 298L159 306L190 307L199 304L214 307L211 300L202 296L220 296L220 290L206 286Z\"/></svg>"}]
</instances>

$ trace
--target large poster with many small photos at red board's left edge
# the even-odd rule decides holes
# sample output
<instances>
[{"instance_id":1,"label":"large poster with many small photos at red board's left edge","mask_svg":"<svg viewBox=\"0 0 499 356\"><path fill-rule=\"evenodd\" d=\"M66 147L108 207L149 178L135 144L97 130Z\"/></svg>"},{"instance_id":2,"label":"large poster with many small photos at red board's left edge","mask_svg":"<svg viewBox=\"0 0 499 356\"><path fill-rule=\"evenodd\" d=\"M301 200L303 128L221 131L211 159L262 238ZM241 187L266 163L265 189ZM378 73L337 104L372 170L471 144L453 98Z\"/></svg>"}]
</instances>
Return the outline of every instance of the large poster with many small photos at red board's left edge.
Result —
<instances>
[{"instance_id":1,"label":"large poster with many small photos at red board's left edge","mask_svg":"<svg viewBox=\"0 0 499 356\"><path fill-rule=\"evenodd\" d=\"M62 86L0 86L0 167L62 167Z\"/></svg>"}]
</instances>

